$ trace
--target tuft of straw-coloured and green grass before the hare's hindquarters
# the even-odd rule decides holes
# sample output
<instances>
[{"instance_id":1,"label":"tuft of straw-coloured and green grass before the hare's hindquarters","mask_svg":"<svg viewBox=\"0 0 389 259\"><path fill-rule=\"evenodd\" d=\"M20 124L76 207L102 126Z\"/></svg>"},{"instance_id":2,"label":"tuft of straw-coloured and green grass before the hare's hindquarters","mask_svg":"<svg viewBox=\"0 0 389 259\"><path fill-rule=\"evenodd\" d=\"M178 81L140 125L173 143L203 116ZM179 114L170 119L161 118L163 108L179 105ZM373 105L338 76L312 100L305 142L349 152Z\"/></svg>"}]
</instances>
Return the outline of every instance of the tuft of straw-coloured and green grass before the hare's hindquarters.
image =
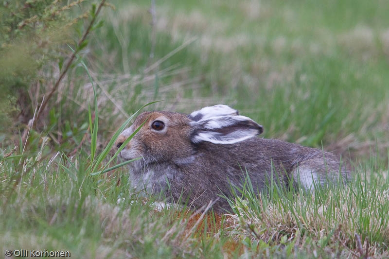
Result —
<instances>
[{"instance_id":1,"label":"tuft of straw-coloured and green grass before the hare's hindquarters","mask_svg":"<svg viewBox=\"0 0 389 259\"><path fill-rule=\"evenodd\" d=\"M369 233L380 233L383 240L389 238L389 219L382 210L388 207L389 192L367 190L363 195L369 202L362 209L354 191L329 190L319 204L315 195L297 197L290 204L264 203L260 196L255 211L242 206L237 215L228 218L230 236L236 241L250 237L257 245L261 242L271 246L293 244L296 252L307 254L323 250L331 258L387 258L387 243L371 241ZM361 237L362 254L358 247ZM312 243L311 238L316 242Z\"/></svg>"}]
</instances>

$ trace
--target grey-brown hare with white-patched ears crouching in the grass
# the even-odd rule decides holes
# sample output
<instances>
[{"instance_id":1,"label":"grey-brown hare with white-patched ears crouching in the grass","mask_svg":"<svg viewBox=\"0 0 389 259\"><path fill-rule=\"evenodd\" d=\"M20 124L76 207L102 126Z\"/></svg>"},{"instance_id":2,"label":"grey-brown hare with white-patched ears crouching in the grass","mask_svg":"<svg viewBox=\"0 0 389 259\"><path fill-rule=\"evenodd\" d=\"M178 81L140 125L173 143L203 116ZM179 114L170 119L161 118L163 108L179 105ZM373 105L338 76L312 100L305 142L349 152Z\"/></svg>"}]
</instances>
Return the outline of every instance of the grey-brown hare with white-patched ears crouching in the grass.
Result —
<instances>
[{"instance_id":1,"label":"grey-brown hare with white-patched ears crouching in the grass","mask_svg":"<svg viewBox=\"0 0 389 259\"><path fill-rule=\"evenodd\" d=\"M314 186L344 184L349 178L335 155L258 138L263 127L227 105L204 107L190 115L143 112L115 145L119 148L140 126L119 155L125 160L141 157L129 164L132 186L195 208L213 201L215 211L231 211L221 196L232 198L233 189L241 190L247 176L256 193L270 181L312 191Z\"/></svg>"}]
</instances>

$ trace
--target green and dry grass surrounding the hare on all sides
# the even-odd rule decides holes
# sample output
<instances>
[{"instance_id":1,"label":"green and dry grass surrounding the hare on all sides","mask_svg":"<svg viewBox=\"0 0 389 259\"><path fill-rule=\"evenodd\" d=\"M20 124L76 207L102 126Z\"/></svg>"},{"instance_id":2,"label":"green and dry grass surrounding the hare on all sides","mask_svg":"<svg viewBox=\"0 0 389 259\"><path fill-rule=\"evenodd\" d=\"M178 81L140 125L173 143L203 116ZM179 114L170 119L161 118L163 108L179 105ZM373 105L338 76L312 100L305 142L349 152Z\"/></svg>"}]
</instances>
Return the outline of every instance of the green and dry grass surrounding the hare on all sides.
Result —
<instances>
[{"instance_id":1,"label":"green and dry grass surrounding the hare on all sides","mask_svg":"<svg viewBox=\"0 0 389 259\"><path fill-rule=\"evenodd\" d=\"M389 257L385 1L172 0L157 2L155 22L149 1L112 3L117 9L103 10L104 26L79 53L84 65L69 71L49 104L44 129L18 149L1 145L2 250L69 250L73 258ZM55 69L41 72L49 86ZM145 109L234 106L264 126L265 138L341 154L354 179L304 195L246 190L233 215L157 211L153 197L129 188L125 166L91 175L120 162L111 138L157 100L164 101Z\"/></svg>"}]
</instances>

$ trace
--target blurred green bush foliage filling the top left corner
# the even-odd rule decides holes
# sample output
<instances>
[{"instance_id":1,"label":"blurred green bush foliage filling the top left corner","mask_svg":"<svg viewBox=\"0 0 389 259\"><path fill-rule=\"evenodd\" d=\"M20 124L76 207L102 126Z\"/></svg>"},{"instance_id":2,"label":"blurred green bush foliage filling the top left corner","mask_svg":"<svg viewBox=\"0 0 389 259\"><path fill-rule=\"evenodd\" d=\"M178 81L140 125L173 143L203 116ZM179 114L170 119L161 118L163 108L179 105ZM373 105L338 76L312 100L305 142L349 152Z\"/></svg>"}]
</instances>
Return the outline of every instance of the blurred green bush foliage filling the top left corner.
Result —
<instances>
[{"instance_id":1,"label":"blurred green bush foliage filling the top left corner","mask_svg":"<svg viewBox=\"0 0 389 259\"><path fill-rule=\"evenodd\" d=\"M0 131L9 129L4 125L13 124L17 112L32 117L33 103L40 100L31 100L27 93L47 91L46 76L53 73L53 62L60 57L63 60L64 44L74 43L72 27L82 15L72 17L70 10L81 2L83 0L1 2L0 102L3 107L0 117L7 123L1 123ZM17 105L18 100L27 103Z\"/></svg>"}]
</instances>

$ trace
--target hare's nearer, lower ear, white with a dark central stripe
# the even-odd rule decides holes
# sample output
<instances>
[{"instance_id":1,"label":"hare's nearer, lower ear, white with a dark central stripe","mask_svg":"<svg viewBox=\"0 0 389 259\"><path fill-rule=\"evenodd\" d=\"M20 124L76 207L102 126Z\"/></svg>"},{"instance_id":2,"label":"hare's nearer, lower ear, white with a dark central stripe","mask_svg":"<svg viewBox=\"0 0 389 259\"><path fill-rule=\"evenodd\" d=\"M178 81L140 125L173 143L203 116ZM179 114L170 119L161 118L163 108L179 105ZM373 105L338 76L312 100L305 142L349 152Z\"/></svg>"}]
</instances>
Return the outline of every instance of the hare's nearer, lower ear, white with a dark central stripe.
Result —
<instances>
[{"instance_id":1,"label":"hare's nearer, lower ear, white with a dark central stripe","mask_svg":"<svg viewBox=\"0 0 389 259\"><path fill-rule=\"evenodd\" d=\"M214 144L233 144L263 132L261 125L245 116L218 116L201 121L191 121L195 128L193 143L202 141Z\"/></svg>"}]
</instances>

